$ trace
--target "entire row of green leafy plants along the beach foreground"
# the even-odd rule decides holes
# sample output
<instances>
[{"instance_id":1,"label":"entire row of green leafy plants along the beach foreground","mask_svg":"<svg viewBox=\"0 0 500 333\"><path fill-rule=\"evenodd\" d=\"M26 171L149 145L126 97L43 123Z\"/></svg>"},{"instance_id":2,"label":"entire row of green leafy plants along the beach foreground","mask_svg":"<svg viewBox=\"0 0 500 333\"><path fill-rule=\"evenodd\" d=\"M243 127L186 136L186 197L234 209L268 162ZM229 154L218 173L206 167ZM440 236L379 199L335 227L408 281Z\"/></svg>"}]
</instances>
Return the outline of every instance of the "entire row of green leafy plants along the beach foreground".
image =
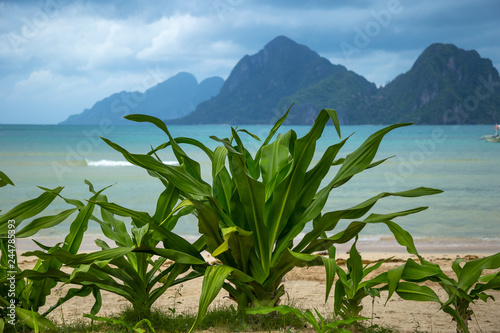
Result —
<instances>
[{"instance_id":1,"label":"entire row of green leafy plants along the beach foreground","mask_svg":"<svg viewBox=\"0 0 500 333\"><path fill-rule=\"evenodd\" d=\"M374 160L384 136L409 124L385 127L352 153L338 157L348 138L340 138L339 121L334 110L322 110L309 132L301 138L293 130L277 134L287 115L288 112L278 120L255 153L245 146L241 135L249 135L257 141L260 138L244 129L231 128L228 138L212 137L219 146L210 149L191 138L173 138L165 123L157 118L127 116L132 121L154 124L168 137L168 141L146 154L130 153L104 139L129 162L144 168L162 182L165 190L157 200L154 214L109 202L102 194L105 189L95 191L90 182L87 184L92 195L86 204L62 197L61 187L53 190L42 188L44 193L38 198L0 215L2 295L10 288L7 272L13 269L18 273L15 282L16 315L35 330L54 330L55 326L45 316L68 299L90 293L95 297L95 304L89 317L109 322L109 318L95 316L101 307L100 292L106 290L125 297L133 312L139 314L132 322L121 318L113 319L112 323L130 331L142 330L141 325L147 324L153 330L151 307L158 297L171 286L203 276L196 318L182 315L174 318L186 319L182 322L182 329L191 326L192 332L200 327L207 318L209 305L220 290L225 289L237 304L237 309L231 307L236 322L255 318L248 314L278 311L294 314L318 332L329 332L360 329L358 322L365 319L361 317L361 301L367 296L379 296L381 290L388 290L387 299L397 293L407 300L439 302L442 309L456 320L457 329L468 332L467 320L472 314L470 304L476 299L486 301L491 298L485 293L487 290L500 289L500 272L481 277L483 270L500 267L500 254L473 260L463 266L460 260L456 261L453 270L457 277L453 279L446 276L439 266L423 260L411 235L393 221L427 207L368 215L384 198L414 198L438 194L440 190L419 187L382 192L353 207L325 211L326 202L336 188L386 160ZM314 162L316 145L328 128L328 122L333 122L331 128L338 133L339 141L332 143ZM211 183L203 179L200 163L184 152L183 144L195 146L208 156ZM159 151L167 148L172 149L178 165L165 164L158 156ZM6 185L13 185L13 182L0 172L0 187ZM16 236L32 236L76 214L64 243L54 247L38 243L44 251L26 254L39 258L32 270L21 272L17 262L11 267L9 221L15 220L15 227L18 227L22 221L42 212L57 197L72 208L34 219L17 231ZM100 217L93 214L96 206L100 208ZM201 234L192 244L173 232L177 222L187 214L196 215ZM121 220L123 217L131 220L130 231ZM340 229L338 225L342 220L350 222ZM100 251L78 254L89 221L99 223L103 235L114 245L98 240ZM409 259L404 265L368 279L367 275L382 264L363 266L356 250L358 235L370 223L385 224L397 242L420 259L420 264ZM301 233L304 235L298 239ZM347 270L344 271L337 266L335 245L353 239ZM202 251L208 251L217 261L207 263ZM328 256L316 254L324 251ZM167 259L173 264L165 267L163 264ZM73 268L73 271L66 273L62 270L63 265ZM315 316L310 310L280 305L285 294L283 277L294 267L306 265L325 267L325 302L333 289L334 314L340 316L338 321L327 323L317 311ZM335 276L338 279L333 288ZM432 289L419 284L427 280L439 283L449 299L442 302ZM57 282L80 287L70 289L48 311L39 314ZM0 305L1 325L6 322L6 308L9 306L3 296L0 296ZM170 311L175 315L175 308Z\"/></svg>"}]
</instances>

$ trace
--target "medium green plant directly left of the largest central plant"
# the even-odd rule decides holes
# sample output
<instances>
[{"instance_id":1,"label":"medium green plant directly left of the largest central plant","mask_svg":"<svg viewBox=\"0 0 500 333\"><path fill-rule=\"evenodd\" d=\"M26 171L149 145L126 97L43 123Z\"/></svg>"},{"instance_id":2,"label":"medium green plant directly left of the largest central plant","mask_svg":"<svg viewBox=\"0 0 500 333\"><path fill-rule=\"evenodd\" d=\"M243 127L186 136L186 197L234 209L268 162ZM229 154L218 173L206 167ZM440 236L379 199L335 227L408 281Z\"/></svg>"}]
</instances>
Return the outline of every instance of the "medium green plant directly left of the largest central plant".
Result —
<instances>
[{"instance_id":1,"label":"medium green plant directly left of the largest central plant","mask_svg":"<svg viewBox=\"0 0 500 333\"><path fill-rule=\"evenodd\" d=\"M192 207L182 205L174 210L178 196L178 190L167 185L158 198L155 215L150 216L145 212L109 203L106 196L100 195L92 203L100 206L102 220L95 217L94 220L101 225L103 234L115 242L116 247L111 248L105 241L96 240L102 250L88 254L73 254L64 248L49 253L28 252L25 255L35 255L47 260L55 258L73 268L71 274L52 270L43 276L32 272L30 277L34 279L50 276L67 284L91 287L97 300L92 314L97 313L101 306L100 291L106 290L123 296L136 311L147 315L153 303L167 288L202 275L193 271L178 278L190 265L205 263L195 246L171 232L178 219L192 211ZM132 219L130 233L125 223L117 219L115 214ZM189 252L157 247L162 241L165 245L170 244L171 247L179 249L184 246ZM153 260L154 255L160 257ZM175 260L176 263L163 269L162 265L167 258Z\"/></svg>"}]
</instances>

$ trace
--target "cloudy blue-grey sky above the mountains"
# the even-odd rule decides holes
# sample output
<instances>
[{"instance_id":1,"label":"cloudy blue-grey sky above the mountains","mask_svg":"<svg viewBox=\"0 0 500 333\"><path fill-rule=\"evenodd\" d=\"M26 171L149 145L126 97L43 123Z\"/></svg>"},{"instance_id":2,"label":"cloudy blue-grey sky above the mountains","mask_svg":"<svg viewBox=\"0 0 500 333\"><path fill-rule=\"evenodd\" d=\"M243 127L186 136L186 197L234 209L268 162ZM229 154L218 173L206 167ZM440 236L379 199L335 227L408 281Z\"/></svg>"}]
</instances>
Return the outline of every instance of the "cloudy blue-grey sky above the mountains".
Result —
<instances>
[{"instance_id":1,"label":"cloudy blue-grey sky above the mountains","mask_svg":"<svg viewBox=\"0 0 500 333\"><path fill-rule=\"evenodd\" d=\"M432 43L500 68L498 0L0 0L0 124L56 124L179 72L226 79L279 35L377 86Z\"/></svg>"}]
</instances>

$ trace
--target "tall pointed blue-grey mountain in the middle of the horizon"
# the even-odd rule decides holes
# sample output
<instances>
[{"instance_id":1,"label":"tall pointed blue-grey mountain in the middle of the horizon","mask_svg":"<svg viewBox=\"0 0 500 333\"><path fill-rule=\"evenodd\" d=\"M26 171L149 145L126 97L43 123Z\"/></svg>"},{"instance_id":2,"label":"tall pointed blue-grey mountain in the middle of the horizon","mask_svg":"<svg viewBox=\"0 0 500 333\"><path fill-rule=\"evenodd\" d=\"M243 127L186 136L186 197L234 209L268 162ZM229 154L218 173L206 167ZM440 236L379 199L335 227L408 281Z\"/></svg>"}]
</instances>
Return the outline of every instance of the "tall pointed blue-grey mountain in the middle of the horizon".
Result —
<instances>
[{"instance_id":1,"label":"tall pointed blue-grey mountain in the middle of the horizon","mask_svg":"<svg viewBox=\"0 0 500 333\"><path fill-rule=\"evenodd\" d=\"M338 84L332 78L342 78L342 81ZM292 98L296 94L301 97L304 94L304 98L292 108L288 123L310 123L319 110L316 104L311 112L308 112L308 107L322 98L309 98L312 94L306 92L314 91L318 84L329 86L330 99L337 100L337 95L346 99L342 104L346 109L357 96L354 93L352 98L344 98L346 90L357 91L362 87L361 90L376 91L373 83L344 66L333 65L308 47L279 36L257 54L244 56L217 96L199 104L188 116L170 123L272 123L293 101L297 101Z\"/></svg>"}]
</instances>

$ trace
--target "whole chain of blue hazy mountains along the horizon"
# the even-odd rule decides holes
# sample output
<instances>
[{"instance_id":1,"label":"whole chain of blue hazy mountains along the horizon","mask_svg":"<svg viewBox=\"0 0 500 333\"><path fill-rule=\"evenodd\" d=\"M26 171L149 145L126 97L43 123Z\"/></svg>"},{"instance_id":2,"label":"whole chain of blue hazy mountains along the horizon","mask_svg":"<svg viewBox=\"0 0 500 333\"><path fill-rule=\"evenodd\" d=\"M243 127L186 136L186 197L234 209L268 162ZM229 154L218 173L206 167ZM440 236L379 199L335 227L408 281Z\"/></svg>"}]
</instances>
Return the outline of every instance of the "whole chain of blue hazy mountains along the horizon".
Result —
<instances>
[{"instance_id":1,"label":"whole chain of blue hazy mountains along the horizon","mask_svg":"<svg viewBox=\"0 0 500 333\"><path fill-rule=\"evenodd\" d=\"M245 55L226 81L198 84L192 74L179 73L142 94L113 94L61 124L97 124L103 117L128 124L126 111L168 124L271 124L292 103L288 124L311 124L322 108L337 110L343 124L491 124L500 119L500 77L476 51L436 43L408 72L377 88L279 36Z\"/></svg>"}]
</instances>

